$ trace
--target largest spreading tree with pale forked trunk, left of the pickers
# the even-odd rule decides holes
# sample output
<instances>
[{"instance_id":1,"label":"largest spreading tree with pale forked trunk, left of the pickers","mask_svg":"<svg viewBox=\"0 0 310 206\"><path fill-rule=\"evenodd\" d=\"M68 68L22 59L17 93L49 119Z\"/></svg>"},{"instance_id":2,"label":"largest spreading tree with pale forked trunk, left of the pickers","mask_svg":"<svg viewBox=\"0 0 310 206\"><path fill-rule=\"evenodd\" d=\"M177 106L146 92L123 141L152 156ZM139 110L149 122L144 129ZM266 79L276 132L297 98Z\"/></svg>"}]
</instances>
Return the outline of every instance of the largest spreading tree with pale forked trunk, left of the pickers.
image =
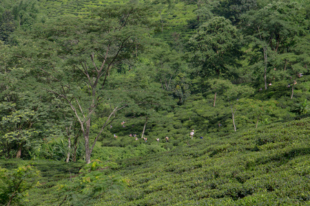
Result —
<instances>
[{"instance_id":1,"label":"largest spreading tree with pale forked trunk, left of the pickers","mask_svg":"<svg viewBox=\"0 0 310 206\"><path fill-rule=\"evenodd\" d=\"M90 156L105 126L126 102L111 104L101 130L91 139L92 117L96 108L109 97L105 93L112 68L125 59L136 56L147 32L149 7L141 4L109 5L90 13L90 19L65 17L38 25L34 38L39 47L50 48L43 54L56 55L57 62L50 60L50 67L37 67L38 77L46 90L62 98L72 109L81 126L85 142L85 161ZM91 143L92 141L92 143Z\"/></svg>"}]
</instances>

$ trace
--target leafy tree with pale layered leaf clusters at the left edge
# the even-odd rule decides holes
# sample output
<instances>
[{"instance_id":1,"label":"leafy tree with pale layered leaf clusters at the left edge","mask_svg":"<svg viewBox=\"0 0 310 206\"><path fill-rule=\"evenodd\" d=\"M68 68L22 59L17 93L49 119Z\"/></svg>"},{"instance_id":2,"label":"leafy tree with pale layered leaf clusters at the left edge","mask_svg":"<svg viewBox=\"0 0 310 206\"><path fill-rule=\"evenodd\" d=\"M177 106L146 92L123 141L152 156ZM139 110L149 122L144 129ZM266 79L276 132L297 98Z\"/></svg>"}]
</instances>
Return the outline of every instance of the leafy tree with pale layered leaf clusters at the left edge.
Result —
<instances>
[{"instance_id":1,"label":"leafy tree with pale layered leaf clusters at the left edge","mask_svg":"<svg viewBox=\"0 0 310 206\"><path fill-rule=\"evenodd\" d=\"M10 52L6 53L8 60L10 56ZM41 144L57 130L54 108L50 104L52 98L38 89L30 69L3 66L0 73L1 153L7 158L34 157L39 155Z\"/></svg>"}]
</instances>

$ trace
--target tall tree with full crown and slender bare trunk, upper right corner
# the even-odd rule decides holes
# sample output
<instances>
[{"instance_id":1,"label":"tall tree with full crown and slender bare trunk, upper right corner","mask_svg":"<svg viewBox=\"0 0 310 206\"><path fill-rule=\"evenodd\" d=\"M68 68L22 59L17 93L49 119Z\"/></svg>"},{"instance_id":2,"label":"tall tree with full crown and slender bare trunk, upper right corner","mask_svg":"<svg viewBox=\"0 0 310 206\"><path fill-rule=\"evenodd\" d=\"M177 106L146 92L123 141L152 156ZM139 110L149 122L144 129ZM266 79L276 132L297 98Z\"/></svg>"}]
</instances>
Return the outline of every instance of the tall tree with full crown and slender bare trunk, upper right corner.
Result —
<instances>
[{"instance_id":1,"label":"tall tree with full crown and slender bare trunk, upper right corner","mask_svg":"<svg viewBox=\"0 0 310 206\"><path fill-rule=\"evenodd\" d=\"M297 42L296 36L307 33L307 22L298 3L280 1L260 10L251 10L243 14L242 19L243 31L251 36L251 43L261 50L267 89L267 73L273 69L269 56L290 52Z\"/></svg>"}]
</instances>

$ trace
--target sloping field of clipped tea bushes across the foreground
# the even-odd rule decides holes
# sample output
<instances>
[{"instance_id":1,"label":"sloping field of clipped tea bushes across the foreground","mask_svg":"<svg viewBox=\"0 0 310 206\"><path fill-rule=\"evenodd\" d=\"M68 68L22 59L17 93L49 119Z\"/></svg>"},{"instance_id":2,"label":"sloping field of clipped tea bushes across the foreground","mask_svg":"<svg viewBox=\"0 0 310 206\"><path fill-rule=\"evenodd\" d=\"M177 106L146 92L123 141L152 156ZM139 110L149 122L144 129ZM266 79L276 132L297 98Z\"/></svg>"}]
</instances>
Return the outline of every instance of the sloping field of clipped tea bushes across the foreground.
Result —
<instances>
[{"instance_id":1,"label":"sloping field of clipped tea bushes across the foreground","mask_svg":"<svg viewBox=\"0 0 310 206\"><path fill-rule=\"evenodd\" d=\"M68 191L61 190L74 183L83 163L28 161L41 171L40 185L19 204L309 205L309 122L307 117L226 137L188 139L170 151L107 161L104 168L94 169L96 178L119 176L126 184L87 202L82 199L85 191L66 199ZM1 160L11 169L21 163L26 162Z\"/></svg>"}]
</instances>

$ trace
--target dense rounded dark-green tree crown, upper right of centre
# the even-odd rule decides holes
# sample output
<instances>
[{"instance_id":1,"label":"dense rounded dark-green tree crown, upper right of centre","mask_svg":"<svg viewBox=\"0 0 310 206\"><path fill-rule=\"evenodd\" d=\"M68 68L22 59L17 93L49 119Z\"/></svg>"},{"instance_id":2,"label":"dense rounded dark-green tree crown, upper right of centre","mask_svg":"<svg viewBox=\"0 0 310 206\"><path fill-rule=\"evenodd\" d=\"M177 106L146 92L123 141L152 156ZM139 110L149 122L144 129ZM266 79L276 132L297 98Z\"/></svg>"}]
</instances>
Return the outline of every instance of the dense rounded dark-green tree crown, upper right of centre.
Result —
<instances>
[{"instance_id":1,"label":"dense rounded dark-green tree crown, upper right of centre","mask_svg":"<svg viewBox=\"0 0 310 206\"><path fill-rule=\"evenodd\" d=\"M234 66L240 53L237 29L228 19L214 17L200 25L197 34L189 39L191 62L198 76L225 76Z\"/></svg>"}]
</instances>

